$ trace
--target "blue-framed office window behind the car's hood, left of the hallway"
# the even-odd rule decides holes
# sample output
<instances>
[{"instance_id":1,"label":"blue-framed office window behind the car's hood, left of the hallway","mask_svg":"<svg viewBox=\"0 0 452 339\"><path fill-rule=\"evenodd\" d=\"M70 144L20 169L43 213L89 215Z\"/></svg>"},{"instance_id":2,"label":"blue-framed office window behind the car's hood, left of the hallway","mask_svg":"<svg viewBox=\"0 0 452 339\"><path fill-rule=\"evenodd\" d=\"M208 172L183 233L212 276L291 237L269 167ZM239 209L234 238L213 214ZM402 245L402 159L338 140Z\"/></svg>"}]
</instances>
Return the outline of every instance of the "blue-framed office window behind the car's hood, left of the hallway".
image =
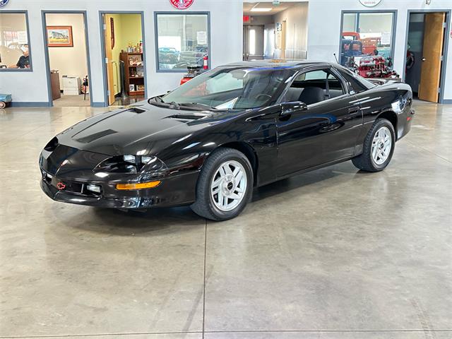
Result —
<instances>
[{"instance_id":1,"label":"blue-framed office window behind the car's hood, left of the hallway","mask_svg":"<svg viewBox=\"0 0 452 339\"><path fill-rule=\"evenodd\" d=\"M159 71L186 71L203 66L210 57L208 14L157 13L157 64Z\"/></svg>"}]
</instances>

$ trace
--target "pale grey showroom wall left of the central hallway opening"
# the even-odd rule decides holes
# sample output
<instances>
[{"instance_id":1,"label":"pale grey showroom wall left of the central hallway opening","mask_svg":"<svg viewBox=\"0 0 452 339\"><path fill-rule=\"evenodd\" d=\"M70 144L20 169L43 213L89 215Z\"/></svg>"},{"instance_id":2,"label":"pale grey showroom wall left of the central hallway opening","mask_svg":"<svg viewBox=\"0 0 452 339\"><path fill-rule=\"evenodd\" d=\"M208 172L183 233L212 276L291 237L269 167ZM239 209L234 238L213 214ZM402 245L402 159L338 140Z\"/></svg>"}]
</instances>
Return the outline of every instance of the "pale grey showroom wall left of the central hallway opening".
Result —
<instances>
[{"instance_id":1,"label":"pale grey showroom wall left of the central hallway opening","mask_svg":"<svg viewBox=\"0 0 452 339\"><path fill-rule=\"evenodd\" d=\"M145 52L148 96L165 93L180 82L183 73L157 73L155 71L154 11L187 13L191 11L210 12L210 63L213 67L242 59L242 1L239 0L195 0L184 11L174 8L169 0L11 0L2 11L28 10L30 53L32 71L0 73L0 93L12 93L16 102L27 105L46 105L47 76L44 61L44 37L42 31L42 10L72 10L88 12L89 52L91 66L91 89L93 104L105 102L102 76L102 48L100 40L99 11L143 11L145 16ZM37 85L39 84L39 85Z\"/></svg>"}]
</instances>

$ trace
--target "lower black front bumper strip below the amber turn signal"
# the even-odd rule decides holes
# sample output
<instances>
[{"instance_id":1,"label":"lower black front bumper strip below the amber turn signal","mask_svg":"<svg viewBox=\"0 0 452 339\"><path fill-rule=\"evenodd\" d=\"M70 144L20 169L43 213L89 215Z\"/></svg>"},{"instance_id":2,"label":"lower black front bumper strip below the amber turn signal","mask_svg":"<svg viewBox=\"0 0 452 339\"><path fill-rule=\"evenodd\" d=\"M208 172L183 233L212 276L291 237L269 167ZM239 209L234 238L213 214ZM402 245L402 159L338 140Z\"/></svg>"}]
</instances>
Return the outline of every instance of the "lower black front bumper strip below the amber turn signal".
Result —
<instances>
[{"instance_id":1,"label":"lower black front bumper strip below the amber turn signal","mask_svg":"<svg viewBox=\"0 0 452 339\"><path fill-rule=\"evenodd\" d=\"M81 182L52 177L51 181L42 179L41 189L49 198L62 203L96 206L102 208L143 209L153 207L184 206L195 201L198 172L179 174L174 177L160 179L162 182L153 189L118 191L115 184L109 182ZM98 195L58 189L55 183L63 182L67 186L97 184L102 186ZM114 190L114 191L113 191Z\"/></svg>"}]
</instances>

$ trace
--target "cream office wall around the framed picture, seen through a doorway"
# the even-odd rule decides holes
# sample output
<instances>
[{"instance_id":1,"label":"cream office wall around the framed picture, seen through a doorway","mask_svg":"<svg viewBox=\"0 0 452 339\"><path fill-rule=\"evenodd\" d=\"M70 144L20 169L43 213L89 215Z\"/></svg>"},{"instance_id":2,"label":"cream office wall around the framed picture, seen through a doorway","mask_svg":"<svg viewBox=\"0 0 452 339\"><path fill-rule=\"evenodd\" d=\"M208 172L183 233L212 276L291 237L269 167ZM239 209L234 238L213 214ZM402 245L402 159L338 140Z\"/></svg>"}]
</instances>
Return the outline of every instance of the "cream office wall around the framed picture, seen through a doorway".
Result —
<instances>
[{"instance_id":1,"label":"cream office wall around the framed picture, seen through a doorway","mask_svg":"<svg viewBox=\"0 0 452 339\"><path fill-rule=\"evenodd\" d=\"M55 14L46 16L48 26L72 26L73 47L49 47L50 68L62 76L78 76L83 79L88 74L85 23L81 14Z\"/></svg>"}]
</instances>

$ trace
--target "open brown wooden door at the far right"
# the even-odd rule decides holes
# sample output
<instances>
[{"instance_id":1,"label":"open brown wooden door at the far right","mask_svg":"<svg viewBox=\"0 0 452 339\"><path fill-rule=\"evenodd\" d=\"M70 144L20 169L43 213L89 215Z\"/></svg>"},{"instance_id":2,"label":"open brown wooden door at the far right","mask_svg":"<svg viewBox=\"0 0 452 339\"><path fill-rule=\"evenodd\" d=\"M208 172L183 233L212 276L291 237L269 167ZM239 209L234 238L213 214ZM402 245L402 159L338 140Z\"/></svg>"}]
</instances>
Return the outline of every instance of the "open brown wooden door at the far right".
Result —
<instances>
[{"instance_id":1,"label":"open brown wooden door at the far right","mask_svg":"<svg viewBox=\"0 0 452 339\"><path fill-rule=\"evenodd\" d=\"M441 80L446 13L427 13L424 22L424 47L418 96L420 100L438 102Z\"/></svg>"}]
</instances>

